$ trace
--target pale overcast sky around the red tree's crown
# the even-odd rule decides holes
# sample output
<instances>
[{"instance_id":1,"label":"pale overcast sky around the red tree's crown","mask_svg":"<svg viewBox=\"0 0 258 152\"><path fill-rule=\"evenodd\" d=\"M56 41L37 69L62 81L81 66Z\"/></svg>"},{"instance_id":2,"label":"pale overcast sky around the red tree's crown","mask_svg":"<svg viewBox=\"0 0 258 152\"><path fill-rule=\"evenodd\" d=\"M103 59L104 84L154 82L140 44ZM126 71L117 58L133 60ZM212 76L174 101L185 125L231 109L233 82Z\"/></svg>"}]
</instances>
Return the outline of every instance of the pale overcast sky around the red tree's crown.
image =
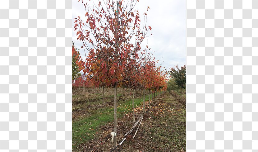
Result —
<instances>
[{"instance_id":1,"label":"pale overcast sky around the red tree's crown","mask_svg":"<svg viewBox=\"0 0 258 152\"><path fill-rule=\"evenodd\" d=\"M86 1L85 1L86 2ZM151 26L152 31L147 37L148 47L158 60L159 64L169 70L173 65L182 66L186 64L186 1L185 0L139 0L135 9L139 11L140 20L143 21L143 13L148 11L147 26ZM85 8L78 2L72 1L72 18L78 16L85 17ZM73 21L73 26L74 26ZM77 40L76 32L72 33L72 40L77 48L82 46L82 42ZM147 40L145 40L147 44ZM146 45L142 45L142 48ZM80 49L82 51L82 49ZM85 56L84 51L80 52ZM85 57L84 57L85 58Z\"/></svg>"}]
</instances>

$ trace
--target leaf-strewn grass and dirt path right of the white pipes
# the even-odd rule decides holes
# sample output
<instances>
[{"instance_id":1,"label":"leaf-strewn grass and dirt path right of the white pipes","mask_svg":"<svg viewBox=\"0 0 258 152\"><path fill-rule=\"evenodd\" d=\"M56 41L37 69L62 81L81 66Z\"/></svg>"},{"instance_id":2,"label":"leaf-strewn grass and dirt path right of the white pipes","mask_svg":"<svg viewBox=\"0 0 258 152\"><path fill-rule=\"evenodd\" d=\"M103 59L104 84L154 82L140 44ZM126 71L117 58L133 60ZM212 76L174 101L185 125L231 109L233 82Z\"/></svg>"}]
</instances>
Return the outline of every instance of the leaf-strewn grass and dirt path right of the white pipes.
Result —
<instances>
[{"instance_id":1,"label":"leaf-strewn grass and dirt path right of the white pipes","mask_svg":"<svg viewBox=\"0 0 258 152\"><path fill-rule=\"evenodd\" d=\"M134 140L122 147L124 152L186 151L186 109L177 98L165 93L159 104L140 126Z\"/></svg>"}]
</instances>

